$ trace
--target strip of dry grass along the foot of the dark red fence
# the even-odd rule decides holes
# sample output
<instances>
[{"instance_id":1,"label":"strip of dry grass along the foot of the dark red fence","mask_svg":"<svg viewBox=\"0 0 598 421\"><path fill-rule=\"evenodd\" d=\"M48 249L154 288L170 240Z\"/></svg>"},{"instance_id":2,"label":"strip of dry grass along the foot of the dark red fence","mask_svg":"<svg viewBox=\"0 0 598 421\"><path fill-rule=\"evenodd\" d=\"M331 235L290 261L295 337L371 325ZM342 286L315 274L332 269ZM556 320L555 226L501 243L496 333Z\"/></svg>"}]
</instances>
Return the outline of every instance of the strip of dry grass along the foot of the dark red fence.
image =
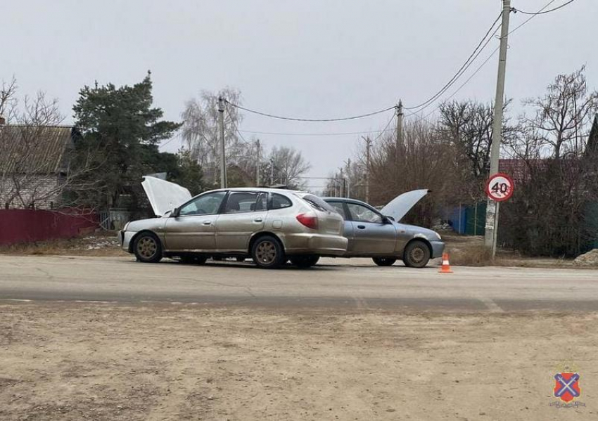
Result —
<instances>
[{"instance_id":1,"label":"strip of dry grass along the foot of the dark red fence","mask_svg":"<svg viewBox=\"0 0 598 421\"><path fill-rule=\"evenodd\" d=\"M115 231L98 231L84 237L56 239L0 246L1 254L70 254L77 256L119 256Z\"/></svg>"}]
</instances>

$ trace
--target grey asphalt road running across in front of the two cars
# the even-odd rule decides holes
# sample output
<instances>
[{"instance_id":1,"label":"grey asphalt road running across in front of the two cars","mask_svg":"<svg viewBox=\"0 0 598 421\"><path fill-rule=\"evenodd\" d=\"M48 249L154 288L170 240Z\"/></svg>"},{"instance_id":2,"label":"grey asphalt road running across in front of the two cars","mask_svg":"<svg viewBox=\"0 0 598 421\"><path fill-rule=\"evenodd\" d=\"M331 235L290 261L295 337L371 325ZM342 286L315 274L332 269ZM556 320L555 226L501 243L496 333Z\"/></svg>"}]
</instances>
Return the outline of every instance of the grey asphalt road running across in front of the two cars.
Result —
<instances>
[{"instance_id":1,"label":"grey asphalt road running across in front of the two cars","mask_svg":"<svg viewBox=\"0 0 598 421\"><path fill-rule=\"evenodd\" d=\"M409 311L598 311L598 271L374 266L322 259L307 269L205 266L129 257L0 255L0 300L182 302Z\"/></svg>"}]
</instances>

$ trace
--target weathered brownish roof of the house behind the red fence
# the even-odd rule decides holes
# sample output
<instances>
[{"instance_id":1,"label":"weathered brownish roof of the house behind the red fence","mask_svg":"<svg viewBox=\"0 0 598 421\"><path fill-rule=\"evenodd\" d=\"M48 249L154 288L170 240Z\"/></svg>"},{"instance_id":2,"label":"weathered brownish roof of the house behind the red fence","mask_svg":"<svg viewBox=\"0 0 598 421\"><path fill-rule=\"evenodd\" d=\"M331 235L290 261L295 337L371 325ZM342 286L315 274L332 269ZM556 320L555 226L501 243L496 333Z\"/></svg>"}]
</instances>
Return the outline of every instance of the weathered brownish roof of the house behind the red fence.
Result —
<instances>
[{"instance_id":1,"label":"weathered brownish roof of the house behind the red fence","mask_svg":"<svg viewBox=\"0 0 598 421\"><path fill-rule=\"evenodd\" d=\"M65 169L65 151L72 148L70 126L0 126L0 171L56 174Z\"/></svg>"}]
</instances>

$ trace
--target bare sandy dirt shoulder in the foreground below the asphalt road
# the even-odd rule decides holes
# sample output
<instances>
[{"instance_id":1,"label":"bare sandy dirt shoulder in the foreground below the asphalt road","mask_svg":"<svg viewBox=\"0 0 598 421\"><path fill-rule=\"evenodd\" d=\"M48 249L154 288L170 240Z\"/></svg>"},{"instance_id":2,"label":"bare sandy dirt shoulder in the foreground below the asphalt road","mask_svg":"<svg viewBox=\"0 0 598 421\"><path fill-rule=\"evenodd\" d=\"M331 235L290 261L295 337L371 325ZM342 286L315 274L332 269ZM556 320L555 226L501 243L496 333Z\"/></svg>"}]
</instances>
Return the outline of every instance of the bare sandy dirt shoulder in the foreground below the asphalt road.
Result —
<instances>
[{"instance_id":1,"label":"bare sandy dirt shoulder in the foreground below the asphalt road","mask_svg":"<svg viewBox=\"0 0 598 421\"><path fill-rule=\"evenodd\" d=\"M0 419L589 419L597 320L0 304ZM549 406L564 365L587 406Z\"/></svg>"}]
</instances>

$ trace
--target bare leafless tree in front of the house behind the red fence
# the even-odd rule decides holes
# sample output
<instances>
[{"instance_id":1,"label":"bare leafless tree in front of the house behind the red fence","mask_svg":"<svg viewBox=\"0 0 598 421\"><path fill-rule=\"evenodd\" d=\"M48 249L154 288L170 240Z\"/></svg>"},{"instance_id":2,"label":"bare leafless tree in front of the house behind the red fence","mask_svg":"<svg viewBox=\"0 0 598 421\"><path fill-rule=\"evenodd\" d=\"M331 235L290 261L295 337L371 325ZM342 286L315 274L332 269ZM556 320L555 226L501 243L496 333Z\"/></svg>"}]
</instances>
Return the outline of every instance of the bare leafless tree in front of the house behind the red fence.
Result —
<instances>
[{"instance_id":1,"label":"bare leafless tree in front of the house behind the red fence","mask_svg":"<svg viewBox=\"0 0 598 421\"><path fill-rule=\"evenodd\" d=\"M63 117L56 100L44 93L16 98L16 84L2 84L0 110L6 121L0 126L0 204L10 207L61 207L73 205L63 193L79 175L89 171L89 159L76 170L70 167L74 152L72 129L60 126ZM85 183L91 188L93 182Z\"/></svg>"}]
</instances>

